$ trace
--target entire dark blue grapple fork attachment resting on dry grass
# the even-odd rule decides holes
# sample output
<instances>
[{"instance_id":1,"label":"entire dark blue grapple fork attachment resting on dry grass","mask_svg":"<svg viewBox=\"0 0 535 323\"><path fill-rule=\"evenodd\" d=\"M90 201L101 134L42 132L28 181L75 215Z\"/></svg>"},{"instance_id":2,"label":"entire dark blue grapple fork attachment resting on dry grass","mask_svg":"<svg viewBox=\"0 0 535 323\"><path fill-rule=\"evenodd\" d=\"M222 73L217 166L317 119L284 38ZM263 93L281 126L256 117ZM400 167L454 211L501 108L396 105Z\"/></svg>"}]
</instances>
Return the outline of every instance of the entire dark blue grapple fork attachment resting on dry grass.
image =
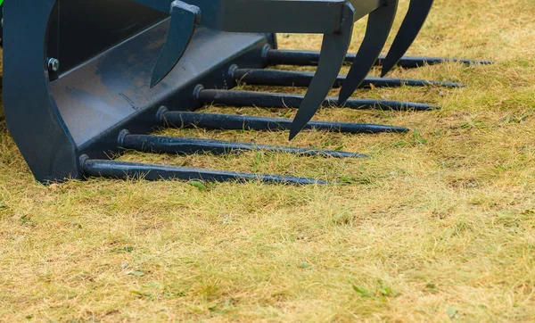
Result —
<instances>
[{"instance_id":1,"label":"entire dark blue grapple fork attachment resting on dry grass","mask_svg":"<svg viewBox=\"0 0 535 323\"><path fill-rule=\"evenodd\" d=\"M311 121L318 108L429 111L431 104L350 98L358 87L462 85L366 78L377 63L415 67L441 59L403 58L432 0L411 0L389 54L380 56L398 0L6 0L3 19L4 112L8 128L42 182L143 177L213 181L324 183L310 178L119 162L124 150L228 153L265 150L337 158L358 153L150 135L155 128L302 129L405 132L374 124ZM357 54L353 24L369 16ZM283 51L275 33L322 34L321 52ZM379 57L379 59L377 59ZM347 76L339 75L352 63ZM470 63L470 61L465 61ZM317 65L316 73L266 69ZM306 95L233 90L248 85L309 87ZM326 97L342 87L338 98ZM294 107L294 120L195 112L205 104Z\"/></svg>"}]
</instances>

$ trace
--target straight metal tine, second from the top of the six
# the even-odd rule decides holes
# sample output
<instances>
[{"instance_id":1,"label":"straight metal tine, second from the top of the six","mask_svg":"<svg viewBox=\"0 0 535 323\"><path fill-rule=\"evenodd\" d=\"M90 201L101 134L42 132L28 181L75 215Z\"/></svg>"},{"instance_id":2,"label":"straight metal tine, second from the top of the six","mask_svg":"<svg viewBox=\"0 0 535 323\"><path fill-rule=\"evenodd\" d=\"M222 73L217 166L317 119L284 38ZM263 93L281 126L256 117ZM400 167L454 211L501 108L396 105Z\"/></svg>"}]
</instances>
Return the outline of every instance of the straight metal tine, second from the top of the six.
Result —
<instances>
[{"instance_id":1,"label":"straight metal tine, second from the top of the six","mask_svg":"<svg viewBox=\"0 0 535 323\"><path fill-rule=\"evenodd\" d=\"M236 69L233 71L237 82L247 85L273 87L309 87L314 73L293 70ZM342 87L345 75L338 75L333 87ZM367 77L360 87L466 87L462 83L440 82L425 79L388 79Z\"/></svg>"}]
</instances>

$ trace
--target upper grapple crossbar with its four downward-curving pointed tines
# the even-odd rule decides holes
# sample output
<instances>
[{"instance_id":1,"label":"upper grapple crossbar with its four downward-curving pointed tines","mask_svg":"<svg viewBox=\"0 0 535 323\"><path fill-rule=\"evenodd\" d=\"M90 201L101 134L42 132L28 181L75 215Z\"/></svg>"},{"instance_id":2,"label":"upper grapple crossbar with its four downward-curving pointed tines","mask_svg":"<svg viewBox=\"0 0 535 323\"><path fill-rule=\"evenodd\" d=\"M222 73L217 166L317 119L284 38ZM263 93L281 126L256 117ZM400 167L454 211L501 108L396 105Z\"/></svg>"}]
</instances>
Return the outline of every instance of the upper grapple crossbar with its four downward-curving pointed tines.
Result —
<instances>
[{"instance_id":1,"label":"upper grapple crossbar with its four downward-curving pointed tines","mask_svg":"<svg viewBox=\"0 0 535 323\"><path fill-rule=\"evenodd\" d=\"M136 0L136 2L157 9L165 7L163 4L169 3L169 0ZM345 104L350 95L365 81L366 74L374 66L386 43L398 7L398 0L218 0L215 2L189 0L189 3L196 8L194 12L208 12L208 14L197 13L196 17L200 17L201 14L203 16L197 23L211 29L232 32L324 34L322 49L317 58L317 72L309 83L309 91L295 116L290 129L290 139L312 119L337 79L347 56L353 22L369 13L366 37L354 58L350 73L345 78L338 100L339 105ZM390 54L383 60L385 63L383 71L391 69L393 64L399 62L401 55L407 51L422 28L431 5L432 0L411 1L407 18L399 30L396 42ZM161 57L174 58L163 63L157 62L152 76L152 87L172 70L183 53L187 37L184 35L185 28L181 27L182 24L187 21L190 27L186 30L193 29L191 19L180 19L177 7L181 8L182 12L187 5L181 1L175 1L171 5L168 41L161 52ZM279 17L280 15L283 17ZM285 15L290 16L290 20L284 19ZM169 44L171 42L175 44Z\"/></svg>"}]
</instances>

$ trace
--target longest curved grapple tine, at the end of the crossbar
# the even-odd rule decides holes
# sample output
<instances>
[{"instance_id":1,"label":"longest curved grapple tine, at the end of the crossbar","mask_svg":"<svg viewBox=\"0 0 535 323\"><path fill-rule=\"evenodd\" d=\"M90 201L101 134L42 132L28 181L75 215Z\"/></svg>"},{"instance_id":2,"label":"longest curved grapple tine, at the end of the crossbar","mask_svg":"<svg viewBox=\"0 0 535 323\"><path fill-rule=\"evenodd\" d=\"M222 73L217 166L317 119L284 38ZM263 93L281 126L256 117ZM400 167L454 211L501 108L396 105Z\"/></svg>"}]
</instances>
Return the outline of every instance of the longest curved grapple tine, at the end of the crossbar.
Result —
<instances>
[{"instance_id":1,"label":"longest curved grapple tine, at the end of the crossbar","mask_svg":"<svg viewBox=\"0 0 535 323\"><path fill-rule=\"evenodd\" d=\"M340 31L324 35L316 74L292 122L290 140L309 123L333 87L350 47L354 15L353 6L350 3L344 4Z\"/></svg>"}]
</instances>

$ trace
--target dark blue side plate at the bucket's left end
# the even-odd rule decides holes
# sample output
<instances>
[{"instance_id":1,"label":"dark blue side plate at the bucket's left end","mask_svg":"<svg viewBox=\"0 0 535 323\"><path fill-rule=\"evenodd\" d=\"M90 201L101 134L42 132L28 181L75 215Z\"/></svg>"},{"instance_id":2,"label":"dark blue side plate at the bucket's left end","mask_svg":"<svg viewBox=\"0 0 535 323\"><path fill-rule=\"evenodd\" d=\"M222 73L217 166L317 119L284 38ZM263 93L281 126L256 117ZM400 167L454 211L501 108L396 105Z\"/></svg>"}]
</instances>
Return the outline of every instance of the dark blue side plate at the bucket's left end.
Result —
<instances>
[{"instance_id":1,"label":"dark blue side plate at the bucket's left end","mask_svg":"<svg viewBox=\"0 0 535 323\"><path fill-rule=\"evenodd\" d=\"M51 95L46 32L54 0L4 4L3 97L7 127L36 178L80 178L78 146Z\"/></svg>"}]
</instances>

